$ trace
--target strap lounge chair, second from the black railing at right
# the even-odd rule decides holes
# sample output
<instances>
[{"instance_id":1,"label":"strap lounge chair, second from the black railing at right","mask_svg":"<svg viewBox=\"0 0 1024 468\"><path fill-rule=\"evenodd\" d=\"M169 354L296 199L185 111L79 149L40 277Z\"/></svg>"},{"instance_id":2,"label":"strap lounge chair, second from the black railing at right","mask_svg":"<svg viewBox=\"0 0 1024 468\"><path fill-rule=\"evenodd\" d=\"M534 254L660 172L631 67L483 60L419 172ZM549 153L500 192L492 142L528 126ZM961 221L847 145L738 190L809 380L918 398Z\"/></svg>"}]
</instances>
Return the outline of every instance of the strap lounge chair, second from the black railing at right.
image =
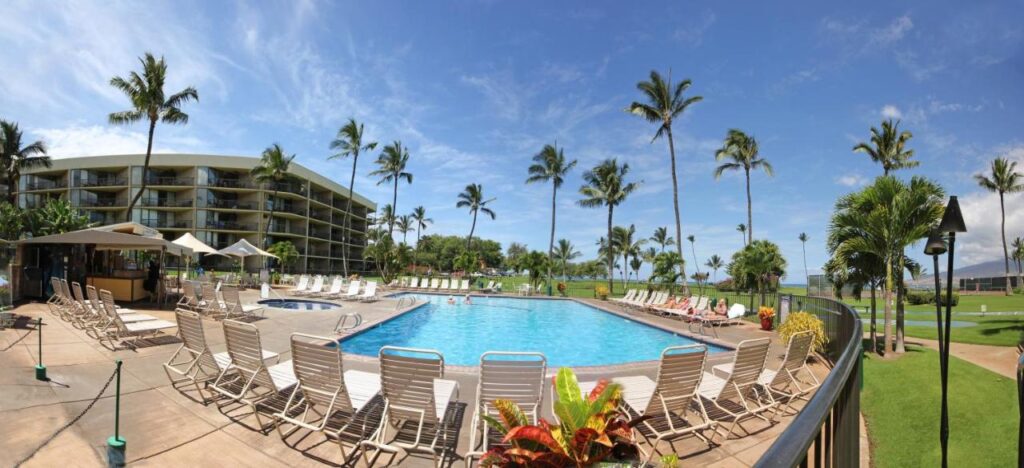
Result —
<instances>
[{"instance_id":1,"label":"strap lounge chair, second from the black railing at right","mask_svg":"<svg viewBox=\"0 0 1024 468\"><path fill-rule=\"evenodd\" d=\"M770 423L761 415L777 405L771 393L758 383L768 357L768 338L743 340L736 346L731 372L725 378L706 372L700 382L700 396L714 403L711 418L730 422L725 438L733 434L739 421L757 417ZM741 427L741 426L740 426Z\"/></svg>"}]
</instances>

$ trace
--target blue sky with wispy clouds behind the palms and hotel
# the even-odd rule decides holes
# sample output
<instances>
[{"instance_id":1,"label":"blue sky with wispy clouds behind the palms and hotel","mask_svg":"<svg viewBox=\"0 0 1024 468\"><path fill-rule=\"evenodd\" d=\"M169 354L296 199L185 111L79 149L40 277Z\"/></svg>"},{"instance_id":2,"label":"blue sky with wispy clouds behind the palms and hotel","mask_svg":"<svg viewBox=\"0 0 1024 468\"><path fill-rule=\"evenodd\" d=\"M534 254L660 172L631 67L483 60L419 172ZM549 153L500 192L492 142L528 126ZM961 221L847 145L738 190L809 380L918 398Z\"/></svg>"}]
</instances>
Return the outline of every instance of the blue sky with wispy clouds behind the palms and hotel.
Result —
<instances>
[{"instance_id":1,"label":"blue sky with wispy clouds behind the palms and hotel","mask_svg":"<svg viewBox=\"0 0 1024 468\"><path fill-rule=\"evenodd\" d=\"M1020 17L1020 2L13 2L0 18L0 117L54 157L144 152L141 126L106 124L127 103L108 81L150 50L166 56L169 89L201 95L187 126L158 128L158 151L258 155L280 142L347 180L348 163L326 157L354 117L373 139L410 147L415 180L400 187L399 213L423 205L428 232L464 236L470 217L456 195L482 183L498 219L477 232L538 250L550 186L523 180L530 157L557 140L580 160L557 237L592 258L604 212L574 203L582 169L605 158L643 180L615 223L644 236L672 225L666 142L623 111L637 81L671 70L703 96L675 128L683 231L696 236L701 264L741 246L742 179L712 176L729 128L758 137L775 167L753 179L755 235L782 247L799 281L797 235L810 236L807 261L819 269L836 198L882 172L850 148L886 117L914 133L921 167L900 175L962 197L968 264L1001 255L997 202L971 175L995 156L1024 161ZM384 204L372 159L356 192ZM1011 237L1024 236L1020 197L1008 199Z\"/></svg>"}]
</instances>

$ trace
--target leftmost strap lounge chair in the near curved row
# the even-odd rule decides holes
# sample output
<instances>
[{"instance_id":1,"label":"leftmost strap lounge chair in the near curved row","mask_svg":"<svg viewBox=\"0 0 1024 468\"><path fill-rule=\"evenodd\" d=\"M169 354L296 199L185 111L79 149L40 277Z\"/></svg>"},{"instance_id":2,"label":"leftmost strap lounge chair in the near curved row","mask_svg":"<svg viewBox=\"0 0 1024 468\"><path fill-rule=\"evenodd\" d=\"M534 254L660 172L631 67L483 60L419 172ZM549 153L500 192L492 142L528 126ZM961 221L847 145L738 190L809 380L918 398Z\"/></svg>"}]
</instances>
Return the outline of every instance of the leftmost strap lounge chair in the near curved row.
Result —
<instances>
[{"instance_id":1,"label":"leftmost strap lounge chair in the near curved row","mask_svg":"<svg viewBox=\"0 0 1024 468\"><path fill-rule=\"evenodd\" d=\"M171 354L171 358L164 363L164 372L167 379L171 381L171 386L177 388L182 382L188 382L196 386L196 391L204 405L208 401L203 394L203 386L213 382L220 376L220 373L230 363L228 353L213 353L206 343L206 334L203 331L203 316L197 312L185 308L178 308L174 311L174 316L178 326L178 337L181 338L181 346ZM262 350L263 360L276 359L276 352ZM177 377L175 377L177 376Z\"/></svg>"}]
</instances>

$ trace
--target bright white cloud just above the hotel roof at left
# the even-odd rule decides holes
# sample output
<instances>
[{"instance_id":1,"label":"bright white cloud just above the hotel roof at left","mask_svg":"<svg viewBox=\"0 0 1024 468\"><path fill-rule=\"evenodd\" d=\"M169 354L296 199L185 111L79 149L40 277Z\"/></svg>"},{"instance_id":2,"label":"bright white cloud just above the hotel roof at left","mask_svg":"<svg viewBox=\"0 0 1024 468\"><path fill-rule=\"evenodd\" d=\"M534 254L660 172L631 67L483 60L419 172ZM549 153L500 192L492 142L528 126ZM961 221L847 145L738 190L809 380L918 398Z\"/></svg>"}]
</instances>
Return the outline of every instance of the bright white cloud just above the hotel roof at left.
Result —
<instances>
[{"instance_id":1,"label":"bright white cloud just above the hotel roof at left","mask_svg":"<svg viewBox=\"0 0 1024 468\"><path fill-rule=\"evenodd\" d=\"M145 153L146 134L120 127L72 126L41 128L32 133L46 143L54 159L99 155L138 155ZM191 137L161 136L154 141L154 153L209 152L202 141Z\"/></svg>"}]
</instances>

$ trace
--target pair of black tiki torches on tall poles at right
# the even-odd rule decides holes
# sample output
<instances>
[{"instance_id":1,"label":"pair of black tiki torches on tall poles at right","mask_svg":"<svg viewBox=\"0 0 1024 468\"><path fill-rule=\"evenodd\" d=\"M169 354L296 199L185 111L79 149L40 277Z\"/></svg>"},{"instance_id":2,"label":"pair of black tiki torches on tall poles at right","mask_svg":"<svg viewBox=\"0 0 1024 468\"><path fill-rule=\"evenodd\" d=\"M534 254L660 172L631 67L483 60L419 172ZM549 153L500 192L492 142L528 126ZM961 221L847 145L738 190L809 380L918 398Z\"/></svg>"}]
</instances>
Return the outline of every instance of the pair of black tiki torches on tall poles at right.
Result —
<instances>
[{"instance_id":1,"label":"pair of black tiki torches on tall poles at right","mask_svg":"<svg viewBox=\"0 0 1024 468\"><path fill-rule=\"evenodd\" d=\"M953 301L953 255L955 252L956 245L956 232L967 232L967 225L964 223L964 215L961 214L959 202L956 201L956 197L949 197L949 203L946 204L945 212L942 214L942 221L939 223L939 228L937 235L941 233L948 235L948 255L946 257L946 316L945 324L942 324L941 320L938 320L937 326L939 327L940 337L939 337L939 378L942 385L942 411L939 420L939 441L942 445L942 467L948 466L946 453L949 446L949 406L947 398L947 386L949 382L949 325L952 322L952 301ZM937 238L937 237L936 237ZM938 239L936 239L938 240ZM929 239L928 246L926 246L925 253L933 255L936 264L936 281L938 281L938 255L939 249L938 244L933 245L932 239ZM936 283L936 299L938 296L938 283ZM941 313L941 305L936 301L935 311L936 315ZM944 327L944 329L943 329Z\"/></svg>"}]
</instances>

